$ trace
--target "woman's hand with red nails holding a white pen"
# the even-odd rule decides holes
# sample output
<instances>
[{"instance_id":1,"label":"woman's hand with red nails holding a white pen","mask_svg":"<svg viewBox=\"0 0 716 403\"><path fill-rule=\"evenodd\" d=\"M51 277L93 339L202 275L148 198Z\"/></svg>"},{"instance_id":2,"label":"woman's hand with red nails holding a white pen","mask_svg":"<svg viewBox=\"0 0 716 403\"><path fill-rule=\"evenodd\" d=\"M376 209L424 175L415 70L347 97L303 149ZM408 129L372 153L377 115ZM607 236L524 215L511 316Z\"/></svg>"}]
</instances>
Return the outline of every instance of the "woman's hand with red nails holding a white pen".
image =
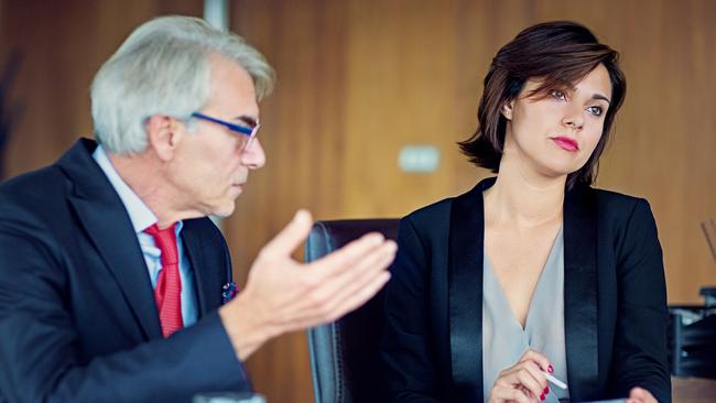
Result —
<instances>
[{"instance_id":1,"label":"woman's hand with red nails holding a white pen","mask_svg":"<svg viewBox=\"0 0 716 403\"><path fill-rule=\"evenodd\" d=\"M528 350L512 367L502 370L490 391L489 403L540 402L550 393L545 372L552 372L546 357Z\"/></svg>"}]
</instances>

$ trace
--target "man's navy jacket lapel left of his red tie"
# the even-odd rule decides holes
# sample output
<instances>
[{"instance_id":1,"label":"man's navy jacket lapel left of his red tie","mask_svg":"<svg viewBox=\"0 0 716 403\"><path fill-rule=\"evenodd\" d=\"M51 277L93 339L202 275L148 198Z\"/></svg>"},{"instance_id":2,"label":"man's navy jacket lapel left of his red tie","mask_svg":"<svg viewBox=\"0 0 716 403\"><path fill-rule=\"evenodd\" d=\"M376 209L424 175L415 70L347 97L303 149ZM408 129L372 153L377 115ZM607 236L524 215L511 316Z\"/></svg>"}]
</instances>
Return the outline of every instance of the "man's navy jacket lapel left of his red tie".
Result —
<instances>
[{"instance_id":1,"label":"man's navy jacket lapel left of his red tie","mask_svg":"<svg viewBox=\"0 0 716 403\"><path fill-rule=\"evenodd\" d=\"M147 339L161 337L156 304L137 233L121 199L94 163L94 148L93 141L82 140L58 162L75 184L69 202L119 283Z\"/></svg>"}]
</instances>

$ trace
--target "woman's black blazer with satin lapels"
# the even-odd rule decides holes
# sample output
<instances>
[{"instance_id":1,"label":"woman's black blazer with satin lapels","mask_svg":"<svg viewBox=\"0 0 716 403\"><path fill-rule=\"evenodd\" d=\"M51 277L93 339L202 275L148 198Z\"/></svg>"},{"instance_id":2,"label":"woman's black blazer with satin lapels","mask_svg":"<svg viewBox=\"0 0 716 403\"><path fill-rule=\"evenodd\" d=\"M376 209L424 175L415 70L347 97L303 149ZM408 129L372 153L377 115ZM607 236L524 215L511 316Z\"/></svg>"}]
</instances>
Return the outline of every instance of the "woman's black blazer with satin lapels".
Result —
<instances>
[{"instance_id":1,"label":"woman's black blazer with satin lapels","mask_svg":"<svg viewBox=\"0 0 716 403\"><path fill-rule=\"evenodd\" d=\"M401 220L381 345L389 401L482 401L482 190L493 182ZM670 402L664 271L649 204L567 192L563 235L572 401L641 385Z\"/></svg>"}]
</instances>

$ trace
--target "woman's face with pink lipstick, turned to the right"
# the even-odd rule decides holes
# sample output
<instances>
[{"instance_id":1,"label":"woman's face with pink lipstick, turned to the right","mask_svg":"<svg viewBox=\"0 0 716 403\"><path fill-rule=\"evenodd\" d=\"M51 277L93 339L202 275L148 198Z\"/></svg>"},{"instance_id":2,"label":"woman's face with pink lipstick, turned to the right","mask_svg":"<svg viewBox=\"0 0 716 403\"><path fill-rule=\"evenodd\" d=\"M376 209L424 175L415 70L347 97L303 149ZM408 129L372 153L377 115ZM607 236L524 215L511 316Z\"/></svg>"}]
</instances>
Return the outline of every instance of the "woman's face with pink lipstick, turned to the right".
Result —
<instances>
[{"instance_id":1,"label":"woman's face with pink lipstick, turned to the right","mask_svg":"<svg viewBox=\"0 0 716 403\"><path fill-rule=\"evenodd\" d=\"M566 176L584 166L599 142L611 99L609 73L600 64L572 88L530 97L540 84L529 79L502 109L502 163L517 164L523 174Z\"/></svg>"}]
</instances>

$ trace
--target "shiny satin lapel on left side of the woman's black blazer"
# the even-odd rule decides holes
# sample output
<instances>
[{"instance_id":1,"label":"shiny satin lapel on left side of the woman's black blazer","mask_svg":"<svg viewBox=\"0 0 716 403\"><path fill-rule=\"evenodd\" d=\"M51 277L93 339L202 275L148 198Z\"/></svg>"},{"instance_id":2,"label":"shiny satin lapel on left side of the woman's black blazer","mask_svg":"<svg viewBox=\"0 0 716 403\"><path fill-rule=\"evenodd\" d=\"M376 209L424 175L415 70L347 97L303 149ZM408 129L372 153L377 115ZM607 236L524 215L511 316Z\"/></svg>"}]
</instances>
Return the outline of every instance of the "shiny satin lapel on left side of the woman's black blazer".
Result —
<instances>
[{"instance_id":1,"label":"shiny satin lapel on left side of the woman's black blazer","mask_svg":"<svg viewBox=\"0 0 716 403\"><path fill-rule=\"evenodd\" d=\"M482 190L453 200L448 244L448 313L455 401L482 401Z\"/></svg>"}]
</instances>

